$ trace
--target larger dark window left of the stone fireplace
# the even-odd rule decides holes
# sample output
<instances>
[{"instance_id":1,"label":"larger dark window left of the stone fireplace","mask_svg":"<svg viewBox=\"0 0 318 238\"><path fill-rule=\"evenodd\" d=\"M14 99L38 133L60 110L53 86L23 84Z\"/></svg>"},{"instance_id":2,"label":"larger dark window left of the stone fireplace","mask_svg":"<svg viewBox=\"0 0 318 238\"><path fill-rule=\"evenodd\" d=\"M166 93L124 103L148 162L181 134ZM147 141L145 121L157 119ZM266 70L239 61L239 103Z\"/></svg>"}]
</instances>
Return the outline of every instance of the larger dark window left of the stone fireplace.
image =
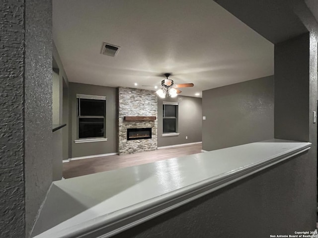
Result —
<instances>
[{"instance_id":1,"label":"larger dark window left of the stone fireplace","mask_svg":"<svg viewBox=\"0 0 318 238\"><path fill-rule=\"evenodd\" d=\"M106 97L77 95L78 139L105 138Z\"/></svg>"}]
</instances>

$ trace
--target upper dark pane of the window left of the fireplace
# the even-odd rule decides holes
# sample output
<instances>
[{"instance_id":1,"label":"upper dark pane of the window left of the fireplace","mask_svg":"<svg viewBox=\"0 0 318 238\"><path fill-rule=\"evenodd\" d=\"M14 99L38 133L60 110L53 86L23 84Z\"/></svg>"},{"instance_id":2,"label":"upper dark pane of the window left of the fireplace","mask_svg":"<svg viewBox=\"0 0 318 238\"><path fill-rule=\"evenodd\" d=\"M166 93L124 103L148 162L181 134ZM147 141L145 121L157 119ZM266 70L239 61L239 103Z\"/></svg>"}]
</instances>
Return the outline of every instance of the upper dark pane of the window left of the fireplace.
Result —
<instances>
[{"instance_id":1,"label":"upper dark pane of the window left of the fireplace","mask_svg":"<svg viewBox=\"0 0 318 238\"><path fill-rule=\"evenodd\" d=\"M105 116L105 100L79 99L79 116Z\"/></svg>"}]
</instances>

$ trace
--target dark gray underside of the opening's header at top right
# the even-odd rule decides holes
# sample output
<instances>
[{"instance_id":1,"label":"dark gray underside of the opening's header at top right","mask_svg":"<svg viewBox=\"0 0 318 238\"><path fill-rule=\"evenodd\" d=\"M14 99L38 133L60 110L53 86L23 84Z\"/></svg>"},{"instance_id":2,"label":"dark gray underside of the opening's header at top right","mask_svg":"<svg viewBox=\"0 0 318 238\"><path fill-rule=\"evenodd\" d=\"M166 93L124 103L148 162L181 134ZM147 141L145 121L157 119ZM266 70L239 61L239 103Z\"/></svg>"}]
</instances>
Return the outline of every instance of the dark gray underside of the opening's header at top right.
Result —
<instances>
[{"instance_id":1,"label":"dark gray underside of the opening's header at top right","mask_svg":"<svg viewBox=\"0 0 318 238\"><path fill-rule=\"evenodd\" d=\"M276 44L308 32L294 13L304 0L214 0L258 34Z\"/></svg>"}]
</instances>

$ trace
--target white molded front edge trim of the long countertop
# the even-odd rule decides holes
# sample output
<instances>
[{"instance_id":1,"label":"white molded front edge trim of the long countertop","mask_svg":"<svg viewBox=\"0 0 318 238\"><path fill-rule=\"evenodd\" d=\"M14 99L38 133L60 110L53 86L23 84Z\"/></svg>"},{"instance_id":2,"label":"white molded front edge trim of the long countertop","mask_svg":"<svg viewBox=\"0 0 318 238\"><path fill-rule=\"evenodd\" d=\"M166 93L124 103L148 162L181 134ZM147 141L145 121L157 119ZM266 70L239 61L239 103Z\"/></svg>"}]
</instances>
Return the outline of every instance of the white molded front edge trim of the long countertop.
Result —
<instances>
[{"instance_id":1,"label":"white molded front edge trim of the long countertop","mask_svg":"<svg viewBox=\"0 0 318 238\"><path fill-rule=\"evenodd\" d=\"M55 235L56 237L60 237L59 235L61 235L63 238L112 237L208 193L303 153L310 148L311 143L308 142L291 151L272 156L265 161L202 180L187 187L168 192L162 196L126 207L115 214L100 216L86 223L67 228Z\"/></svg>"}]
</instances>

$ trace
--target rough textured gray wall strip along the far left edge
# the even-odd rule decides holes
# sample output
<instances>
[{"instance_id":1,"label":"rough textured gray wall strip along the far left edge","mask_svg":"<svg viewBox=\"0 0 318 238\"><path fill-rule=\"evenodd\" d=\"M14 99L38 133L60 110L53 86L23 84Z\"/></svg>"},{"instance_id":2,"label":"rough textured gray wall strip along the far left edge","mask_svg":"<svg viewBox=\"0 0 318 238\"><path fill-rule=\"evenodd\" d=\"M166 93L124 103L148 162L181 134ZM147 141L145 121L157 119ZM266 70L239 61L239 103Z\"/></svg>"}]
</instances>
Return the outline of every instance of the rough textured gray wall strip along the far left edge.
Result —
<instances>
[{"instance_id":1,"label":"rough textured gray wall strip along the far left edge","mask_svg":"<svg viewBox=\"0 0 318 238\"><path fill-rule=\"evenodd\" d=\"M24 237L23 0L0 4L0 237Z\"/></svg>"}]
</instances>

